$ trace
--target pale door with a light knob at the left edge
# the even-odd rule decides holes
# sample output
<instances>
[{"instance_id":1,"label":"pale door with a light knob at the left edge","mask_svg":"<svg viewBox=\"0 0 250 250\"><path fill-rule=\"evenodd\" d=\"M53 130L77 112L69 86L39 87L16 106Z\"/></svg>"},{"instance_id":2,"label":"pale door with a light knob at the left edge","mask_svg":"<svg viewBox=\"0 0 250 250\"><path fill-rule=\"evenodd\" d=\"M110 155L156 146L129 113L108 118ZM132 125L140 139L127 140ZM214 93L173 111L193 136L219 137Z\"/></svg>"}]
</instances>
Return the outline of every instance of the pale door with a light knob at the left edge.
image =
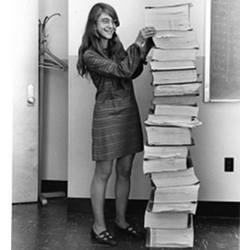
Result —
<instances>
[{"instance_id":1,"label":"pale door with a light knob at the left edge","mask_svg":"<svg viewBox=\"0 0 250 250\"><path fill-rule=\"evenodd\" d=\"M38 0L15 0L13 11L12 201L38 200Z\"/></svg>"}]
</instances>

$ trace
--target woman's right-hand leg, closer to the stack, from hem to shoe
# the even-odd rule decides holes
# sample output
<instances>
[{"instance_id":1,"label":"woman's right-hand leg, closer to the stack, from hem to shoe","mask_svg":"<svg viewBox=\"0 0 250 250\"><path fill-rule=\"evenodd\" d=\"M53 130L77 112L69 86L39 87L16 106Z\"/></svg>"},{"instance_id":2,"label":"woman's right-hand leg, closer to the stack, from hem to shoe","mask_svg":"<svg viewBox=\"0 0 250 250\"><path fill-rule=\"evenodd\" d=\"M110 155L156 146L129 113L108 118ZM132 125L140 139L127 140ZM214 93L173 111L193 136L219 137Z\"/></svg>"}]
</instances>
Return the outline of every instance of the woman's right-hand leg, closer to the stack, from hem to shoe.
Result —
<instances>
[{"instance_id":1,"label":"woman's right-hand leg, closer to the stack, from hem to shoe","mask_svg":"<svg viewBox=\"0 0 250 250\"><path fill-rule=\"evenodd\" d=\"M116 223L122 227L128 227L126 222L126 209L130 191L130 176L134 160L134 154L117 159L116 162Z\"/></svg>"}]
</instances>

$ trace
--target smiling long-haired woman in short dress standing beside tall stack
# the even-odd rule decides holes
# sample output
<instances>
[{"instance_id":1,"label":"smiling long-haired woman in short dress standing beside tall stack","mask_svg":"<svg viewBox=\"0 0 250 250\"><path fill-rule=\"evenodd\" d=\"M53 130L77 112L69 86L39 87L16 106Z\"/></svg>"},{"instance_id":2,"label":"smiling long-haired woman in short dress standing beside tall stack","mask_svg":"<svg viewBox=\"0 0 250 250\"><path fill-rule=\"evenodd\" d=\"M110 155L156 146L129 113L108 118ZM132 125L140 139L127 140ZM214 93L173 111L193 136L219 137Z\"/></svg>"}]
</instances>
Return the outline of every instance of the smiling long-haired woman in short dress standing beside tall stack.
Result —
<instances>
[{"instance_id":1,"label":"smiling long-haired woman in short dress standing beside tall stack","mask_svg":"<svg viewBox=\"0 0 250 250\"><path fill-rule=\"evenodd\" d=\"M145 56L152 46L155 29L146 27L128 49L124 50L116 28L119 19L108 4L98 3L90 10L77 69L89 74L97 89L92 127L92 158L96 161L91 184L95 242L116 245L104 219L104 199L112 165L116 160L116 220L120 232L140 237L125 218L130 190L130 174L135 153L143 150L140 116L132 79L143 70Z\"/></svg>"}]
</instances>

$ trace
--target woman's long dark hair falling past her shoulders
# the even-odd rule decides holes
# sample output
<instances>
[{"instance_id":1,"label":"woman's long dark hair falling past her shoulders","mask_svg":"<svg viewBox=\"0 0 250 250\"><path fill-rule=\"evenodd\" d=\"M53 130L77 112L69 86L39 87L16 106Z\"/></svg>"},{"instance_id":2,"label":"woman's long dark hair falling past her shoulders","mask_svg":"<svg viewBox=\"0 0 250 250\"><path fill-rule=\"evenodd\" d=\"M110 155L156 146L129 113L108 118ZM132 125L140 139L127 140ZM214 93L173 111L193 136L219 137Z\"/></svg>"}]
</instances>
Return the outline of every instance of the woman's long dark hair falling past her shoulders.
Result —
<instances>
[{"instance_id":1,"label":"woman's long dark hair falling past her shoulders","mask_svg":"<svg viewBox=\"0 0 250 250\"><path fill-rule=\"evenodd\" d=\"M112 6L105 3L97 3L92 7L88 15L85 32L82 36L82 43L78 50L77 71L82 77L87 72L87 68L83 60L84 52L89 48L94 49L99 53L101 53L102 50L100 47L101 37L97 31L97 20L102 13L109 15L113 19L116 27L120 25L117 13ZM121 48L122 44L117 34L114 33L112 39L110 39L108 43L109 53L113 55L119 52Z\"/></svg>"}]
</instances>

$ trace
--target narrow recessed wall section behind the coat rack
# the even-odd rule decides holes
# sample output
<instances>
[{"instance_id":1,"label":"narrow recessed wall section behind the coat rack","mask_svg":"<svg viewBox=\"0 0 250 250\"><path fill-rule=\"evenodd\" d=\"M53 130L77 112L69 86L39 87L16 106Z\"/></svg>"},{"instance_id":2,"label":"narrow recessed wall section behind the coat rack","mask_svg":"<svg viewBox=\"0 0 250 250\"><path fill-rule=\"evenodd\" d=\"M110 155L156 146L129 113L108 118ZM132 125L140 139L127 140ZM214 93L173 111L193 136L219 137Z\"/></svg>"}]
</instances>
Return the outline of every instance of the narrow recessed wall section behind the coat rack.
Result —
<instances>
[{"instance_id":1,"label":"narrow recessed wall section behind the coat rack","mask_svg":"<svg viewBox=\"0 0 250 250\"><path fill-rule=\"evenodd\" d=\"M60 13L46 25L48 48L61 59L68 57L67 0L40 0L39 18ZM44 70L44 137L42 180L67 180L68 72Z\"/></svg>"}]
</instances>

